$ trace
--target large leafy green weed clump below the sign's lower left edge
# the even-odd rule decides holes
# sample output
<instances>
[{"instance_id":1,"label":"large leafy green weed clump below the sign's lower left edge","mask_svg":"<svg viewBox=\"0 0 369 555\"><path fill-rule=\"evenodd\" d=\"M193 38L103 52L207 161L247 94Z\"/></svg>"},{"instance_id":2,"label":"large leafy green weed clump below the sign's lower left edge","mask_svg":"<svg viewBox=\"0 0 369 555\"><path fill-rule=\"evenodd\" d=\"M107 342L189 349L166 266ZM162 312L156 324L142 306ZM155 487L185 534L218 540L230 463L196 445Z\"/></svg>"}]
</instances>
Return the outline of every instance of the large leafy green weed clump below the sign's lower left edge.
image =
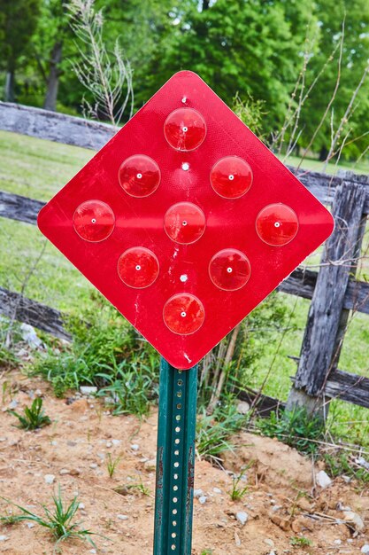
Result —
<instances>
[{"instance_id":1,"label":"large leafy green weed clump below the sign's lower left edge","mask_svg":"<svg viewBox=\"0 0 369 555\"><path fill-rule=\"evenodd\" d=\"M136 373L145 370L140 361L150 351L148 344L137 337L127 321L100 295L94 297L90 309L82 312L82 318L69 320L72 346L49 347L46 356L38 357L33 371L48 379L58 396L64 395L67 389L83 385L106 386L103 395L113 394L125 377L127 383L119 393L122 411L126 409L127 391L139 395L133 403L142 403L139 388L142 387L144 393L147 391L148 378L144 372Z\"/></svg>"}]
</instances>

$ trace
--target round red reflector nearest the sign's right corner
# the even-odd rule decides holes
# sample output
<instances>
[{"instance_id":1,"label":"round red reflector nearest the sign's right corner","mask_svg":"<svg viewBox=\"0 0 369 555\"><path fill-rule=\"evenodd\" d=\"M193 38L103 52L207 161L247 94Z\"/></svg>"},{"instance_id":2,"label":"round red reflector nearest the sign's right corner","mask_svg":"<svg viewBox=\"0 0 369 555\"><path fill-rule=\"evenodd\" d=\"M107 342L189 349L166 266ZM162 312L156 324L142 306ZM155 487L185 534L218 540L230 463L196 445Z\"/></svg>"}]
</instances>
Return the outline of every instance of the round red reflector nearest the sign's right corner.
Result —
<instances>
[{"instance_id":1,"label":"round red reflector nearest the sign's right corner","mask_svg":"<svg viewBox=\"0 0 369 555\"><path fill-rule=\"evenodd\" d=\"M285 204L270 204L257 217L257 232L267 245L287 245L296 237L298 219L296 212Z\"/></svg>"}]
</instances>

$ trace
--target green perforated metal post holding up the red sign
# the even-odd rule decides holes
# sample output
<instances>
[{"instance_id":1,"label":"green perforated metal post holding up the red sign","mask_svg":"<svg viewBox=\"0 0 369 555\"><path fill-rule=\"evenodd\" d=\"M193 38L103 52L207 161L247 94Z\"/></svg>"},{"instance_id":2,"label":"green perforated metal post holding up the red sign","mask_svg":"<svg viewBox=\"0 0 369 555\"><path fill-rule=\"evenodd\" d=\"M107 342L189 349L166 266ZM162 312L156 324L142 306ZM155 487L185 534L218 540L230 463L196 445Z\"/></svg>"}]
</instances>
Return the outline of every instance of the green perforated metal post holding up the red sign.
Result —
<instances>
[{"instance_id":1,"label":"green perforated metal post holding up the red sign","mask_svg":"<svg viewBox=\"0 0 369 555\"><path fill-rule=\"evenodd\" d=\"M154 555L190 555L197 366L160 367Z\"/></svg>"}]
</instances>

